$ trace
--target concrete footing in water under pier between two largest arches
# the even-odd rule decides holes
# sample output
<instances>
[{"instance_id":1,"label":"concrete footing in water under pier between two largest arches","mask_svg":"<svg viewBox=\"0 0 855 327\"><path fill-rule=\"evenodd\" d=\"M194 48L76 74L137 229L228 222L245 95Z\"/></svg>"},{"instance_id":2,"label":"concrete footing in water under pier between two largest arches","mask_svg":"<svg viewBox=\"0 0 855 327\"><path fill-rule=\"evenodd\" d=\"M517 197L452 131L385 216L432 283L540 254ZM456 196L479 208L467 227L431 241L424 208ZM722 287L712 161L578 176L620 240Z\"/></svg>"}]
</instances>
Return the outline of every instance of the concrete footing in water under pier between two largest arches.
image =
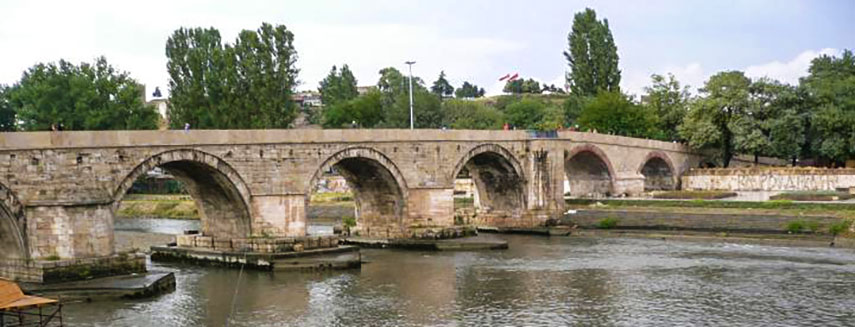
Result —
<instances>
[{"instance_id":1,"label":"concrete footing in water under pier between two largest arches","mask_svg":"<svg viewBox=\"0 0 855 327\"><path fill-rule=\"evenodd\" d=\"M359 247L340 245L292 252L236 252L180 246L153 246L151 260L261 270L349 269L362 265Z\"/></svg>"}]
</instances>

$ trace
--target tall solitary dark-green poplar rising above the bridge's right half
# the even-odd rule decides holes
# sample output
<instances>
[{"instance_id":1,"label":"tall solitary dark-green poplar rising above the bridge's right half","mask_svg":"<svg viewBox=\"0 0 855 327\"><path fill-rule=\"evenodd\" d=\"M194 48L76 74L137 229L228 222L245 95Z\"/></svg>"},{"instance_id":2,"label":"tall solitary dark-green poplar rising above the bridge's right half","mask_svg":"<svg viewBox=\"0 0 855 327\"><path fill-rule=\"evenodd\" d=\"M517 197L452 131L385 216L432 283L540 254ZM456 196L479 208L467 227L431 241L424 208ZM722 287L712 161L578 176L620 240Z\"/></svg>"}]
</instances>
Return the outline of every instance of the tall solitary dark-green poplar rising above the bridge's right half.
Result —
<instances>
[{"instance_id":1,"label":"tall solitary dark-green poplar rising above the bridge's right half","mask_svg":"<svg viewBox=\"0 0 855 327\"><path fill-rule=\"evenodd\" d=\"M617 47L607 19L598 21L590 8L576 13L567 43L570 93L595 96L599 91L620 91Z\"/></svg>"}]
</instances>

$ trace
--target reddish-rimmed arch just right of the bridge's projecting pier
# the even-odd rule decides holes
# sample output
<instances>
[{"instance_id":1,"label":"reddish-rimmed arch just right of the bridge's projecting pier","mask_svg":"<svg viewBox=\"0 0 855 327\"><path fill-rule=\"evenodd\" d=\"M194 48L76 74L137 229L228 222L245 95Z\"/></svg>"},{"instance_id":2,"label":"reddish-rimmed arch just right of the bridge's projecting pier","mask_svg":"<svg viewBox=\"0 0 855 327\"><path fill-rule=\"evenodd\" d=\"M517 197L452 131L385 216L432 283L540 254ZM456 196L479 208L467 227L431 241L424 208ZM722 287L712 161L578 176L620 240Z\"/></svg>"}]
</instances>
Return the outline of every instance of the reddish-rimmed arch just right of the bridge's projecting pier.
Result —
<instances>
[{"instance_id":1,"label":"reddish-rimmed arch just right of the bridge's projecting pier","mask_svg":"<svg viewBox=\"0 0 855 327\"><path fill-rule=\"evenodd\" d=\"M582 144L564 153L564 173L574 197L614 194L615 170L606 153L593 144Z\"/></svg>"}]
</instances>

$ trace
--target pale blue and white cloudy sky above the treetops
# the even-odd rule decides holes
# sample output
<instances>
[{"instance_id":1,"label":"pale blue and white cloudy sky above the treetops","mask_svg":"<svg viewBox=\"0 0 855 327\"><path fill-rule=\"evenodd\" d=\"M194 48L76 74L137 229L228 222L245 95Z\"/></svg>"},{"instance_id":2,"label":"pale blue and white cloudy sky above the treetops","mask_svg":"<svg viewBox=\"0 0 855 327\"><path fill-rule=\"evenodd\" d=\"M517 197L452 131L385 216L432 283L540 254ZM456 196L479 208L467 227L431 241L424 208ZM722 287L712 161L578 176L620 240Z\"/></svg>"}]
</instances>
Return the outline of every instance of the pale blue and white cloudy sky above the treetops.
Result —
<instances>
[{"instance_id":1,"label":"pale blue and white cloudy sky above the treetops","mask_svg":"<svg viewBox=\"0 0 855 327\"><path fill-rule=\"evenodd\" d=\"M358 84L384 67L428 83L445 71L500 94L519 73L564 84L567 34L586 7L608 19L620 56L621 88L640 95L651 74L672 73L693 90L712 74L798 83L811 59L855 49L855 1L10 1L0 0L0 84L38 62L105 56L148 88L168 92L164 47L179 27L215 27L233 42L262 22L295 35L301 84L315 90L333 65Z\"/></svg>"}]
</instances>

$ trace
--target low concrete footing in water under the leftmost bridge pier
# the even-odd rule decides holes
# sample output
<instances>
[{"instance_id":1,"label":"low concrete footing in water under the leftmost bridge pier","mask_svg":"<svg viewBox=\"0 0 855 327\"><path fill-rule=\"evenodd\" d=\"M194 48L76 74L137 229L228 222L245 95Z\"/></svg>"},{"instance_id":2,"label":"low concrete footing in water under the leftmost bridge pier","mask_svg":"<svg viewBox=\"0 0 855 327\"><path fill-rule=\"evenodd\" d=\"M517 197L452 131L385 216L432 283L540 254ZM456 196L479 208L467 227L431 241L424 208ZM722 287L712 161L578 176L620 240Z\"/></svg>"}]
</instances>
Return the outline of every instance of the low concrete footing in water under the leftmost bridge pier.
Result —
<instances>
[{"instance_id":1,"label":"low concrete footing in water under the leftmost bridge pier","mask_svg":"<svg viewBox=\"0 0 855 327\"><path fill-rule=\"evenodd\" d=\"M40 284L22 283L28 294L67 300L114 300L157 296L175 290L175 275L171 272L146 272L82 281Z\"/></svg>"}]
</instances>

